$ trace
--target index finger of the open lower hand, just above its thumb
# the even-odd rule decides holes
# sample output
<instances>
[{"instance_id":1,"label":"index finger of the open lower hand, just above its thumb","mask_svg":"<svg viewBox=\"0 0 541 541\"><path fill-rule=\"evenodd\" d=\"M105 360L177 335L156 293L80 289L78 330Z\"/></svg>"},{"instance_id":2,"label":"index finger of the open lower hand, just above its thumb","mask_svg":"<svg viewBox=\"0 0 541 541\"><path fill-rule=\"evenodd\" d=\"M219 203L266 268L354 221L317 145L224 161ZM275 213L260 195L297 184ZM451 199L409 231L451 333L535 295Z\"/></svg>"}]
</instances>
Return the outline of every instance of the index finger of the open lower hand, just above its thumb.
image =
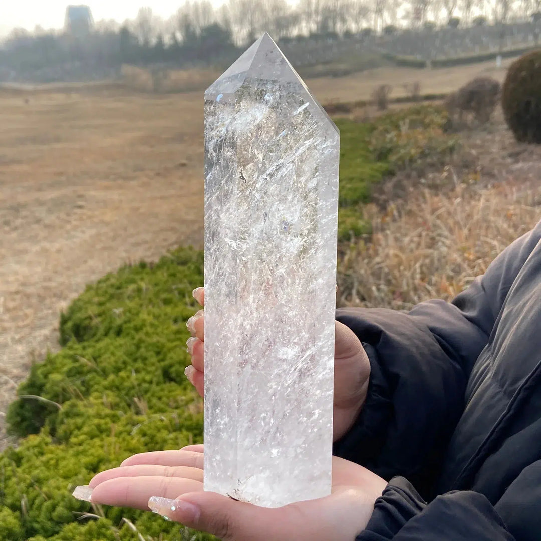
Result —
<instances>
[{"instance_id":1,"label":"index finger of the open lower hand, just above its thumb","mask_svg":"<svg viewBox=\"0 0 541 541\"><path fill-rule=\"evenodd\" d=\"M90 498L93 504L148 511L148 500L156 494L162 498L178 498L187 492L202 490L203 483L195 479L160 476L117 477L97 485Z\"/></svg>"}]
</instances>

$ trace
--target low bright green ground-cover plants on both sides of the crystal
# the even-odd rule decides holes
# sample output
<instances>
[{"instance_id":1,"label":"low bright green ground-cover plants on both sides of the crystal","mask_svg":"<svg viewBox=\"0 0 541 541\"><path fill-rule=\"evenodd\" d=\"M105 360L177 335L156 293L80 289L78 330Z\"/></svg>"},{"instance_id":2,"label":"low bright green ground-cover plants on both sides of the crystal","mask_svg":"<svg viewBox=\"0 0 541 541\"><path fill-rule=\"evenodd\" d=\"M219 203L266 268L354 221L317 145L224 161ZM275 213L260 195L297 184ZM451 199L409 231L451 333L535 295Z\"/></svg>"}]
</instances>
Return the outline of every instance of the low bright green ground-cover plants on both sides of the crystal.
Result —
<instances>
[{"instance_id":1,"label":"low bright green ground-cover plants on both sides of the crystal","mask_svg":"<svg viewBox=\"0 0 541 541\"><path fill-rule=\"evenodd\" d=\"M444 121L435 109L414 111L408 126L420 131L412 138L404 136L406 113L337 121L341 239L368 232L362 205L373 186L404 165L403 153L420 156ZM104 276L62 314L62 348L32 366L8 411L20 439L0 454L0 541L213 539L71 496L131 454L202 442L202 400L184 377L186 321L198 308L192 289L202 283L203 254L179 248Z\"/></svg>"}]
</instances>

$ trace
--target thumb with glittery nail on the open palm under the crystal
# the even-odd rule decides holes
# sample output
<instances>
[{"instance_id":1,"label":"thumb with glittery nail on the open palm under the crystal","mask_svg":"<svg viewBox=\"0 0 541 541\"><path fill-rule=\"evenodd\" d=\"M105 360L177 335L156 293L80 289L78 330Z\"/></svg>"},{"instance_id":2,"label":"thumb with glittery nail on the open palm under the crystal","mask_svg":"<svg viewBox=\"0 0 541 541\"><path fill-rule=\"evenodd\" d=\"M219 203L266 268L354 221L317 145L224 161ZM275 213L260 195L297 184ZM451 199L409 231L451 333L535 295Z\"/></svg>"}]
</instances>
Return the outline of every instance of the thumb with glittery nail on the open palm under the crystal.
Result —
<instances>
[{"instance_id":1,"label":"thumb with glittery nail on the open palm under the crystal","mask_svg":"<svg viewBox=\"0 0 541 541\"><path fill-rule=\"evenodd\" d=\"M183 494L176 500L153 497L151 511L224 541L271 541L283 538L278 509L237 502L215 492ZM283 510L283 508L282 508Z\"/></svg>"}]
</instances>

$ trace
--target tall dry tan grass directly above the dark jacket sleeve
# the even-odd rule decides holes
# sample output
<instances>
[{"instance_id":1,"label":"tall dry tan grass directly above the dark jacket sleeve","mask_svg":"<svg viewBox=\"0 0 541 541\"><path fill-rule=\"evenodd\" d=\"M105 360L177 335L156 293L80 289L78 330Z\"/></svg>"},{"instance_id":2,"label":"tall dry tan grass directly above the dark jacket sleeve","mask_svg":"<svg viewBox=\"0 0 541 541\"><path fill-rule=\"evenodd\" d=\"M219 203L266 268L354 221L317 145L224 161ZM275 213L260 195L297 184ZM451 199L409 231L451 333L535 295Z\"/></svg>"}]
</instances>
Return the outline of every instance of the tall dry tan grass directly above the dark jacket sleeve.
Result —
<instances>
[{"instance_id":1,"label":"tall dry tan grass directly above the dark jacket sleeve","mask_svg":"<svg viewBox=\"0 0 541 541\"><path fill-rule=\"evenodd\" d=\"M367 207L368 241L338 263L340 306L409 309L452 299L513 240L541 219L541 187L499 186L417 192L382 216Z\"/></svg>"}]
</instances>

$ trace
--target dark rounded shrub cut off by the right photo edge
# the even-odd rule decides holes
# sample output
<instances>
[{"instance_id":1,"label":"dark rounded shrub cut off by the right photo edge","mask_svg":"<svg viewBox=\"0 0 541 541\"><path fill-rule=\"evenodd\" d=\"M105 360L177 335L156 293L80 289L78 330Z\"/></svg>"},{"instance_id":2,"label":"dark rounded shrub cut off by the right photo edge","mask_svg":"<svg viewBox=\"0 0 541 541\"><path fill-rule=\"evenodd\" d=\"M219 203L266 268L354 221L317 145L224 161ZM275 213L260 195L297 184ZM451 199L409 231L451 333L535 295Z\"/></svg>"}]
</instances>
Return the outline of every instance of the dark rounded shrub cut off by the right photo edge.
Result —
<instances>
[{"instance_id":1,"label":"dark rounded shrub cut off by the right photo edge","mask_svg":"<svg viewBox=\"0 0 541 541\"><path fill-rule=\"evenodd\" d=\"M502 107L517 141L541 143L541 50L511 64L503 86Z\"/></svg>"}]
</instances>

